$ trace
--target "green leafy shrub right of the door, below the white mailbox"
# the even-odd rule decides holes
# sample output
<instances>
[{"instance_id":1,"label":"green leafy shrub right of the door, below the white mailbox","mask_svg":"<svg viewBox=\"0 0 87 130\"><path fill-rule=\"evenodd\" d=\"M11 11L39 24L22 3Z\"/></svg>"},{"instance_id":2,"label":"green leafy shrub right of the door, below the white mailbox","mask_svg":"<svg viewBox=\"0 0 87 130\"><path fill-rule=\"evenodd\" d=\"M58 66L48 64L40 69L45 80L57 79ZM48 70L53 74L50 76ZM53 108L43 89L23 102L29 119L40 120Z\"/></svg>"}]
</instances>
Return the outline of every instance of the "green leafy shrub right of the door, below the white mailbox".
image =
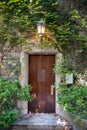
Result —
<instances>
[{"instance_id":1,"label":"green leafy shrub right of the door, below the white mailbox","mask_svg":"<svg viewBox=\"0 0 87 130\"><path fill-rule=\"evenodd\" d=\"M80 118L87 118L87 86L59 87L58 103Z\"/></svg>"}]
</instances>

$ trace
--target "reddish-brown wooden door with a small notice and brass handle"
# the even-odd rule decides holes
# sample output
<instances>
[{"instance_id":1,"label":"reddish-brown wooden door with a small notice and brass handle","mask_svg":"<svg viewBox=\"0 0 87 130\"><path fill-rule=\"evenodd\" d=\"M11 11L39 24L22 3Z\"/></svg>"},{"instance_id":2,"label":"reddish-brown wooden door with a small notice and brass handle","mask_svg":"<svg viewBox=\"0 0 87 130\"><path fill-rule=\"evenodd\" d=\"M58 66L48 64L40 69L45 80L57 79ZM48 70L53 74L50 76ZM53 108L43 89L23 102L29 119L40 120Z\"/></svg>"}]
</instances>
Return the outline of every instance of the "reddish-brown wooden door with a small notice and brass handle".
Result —
<instances>
[{"instance_id":1,"label":"reddish-brown wooden door with a small notice and brass handle","mask_svg":"<svg viewBox=\"0 0 87 130\"><path fill-rule=\"evenodd\" d=\"M55 55L29 56L29 84L32 85L33 101L29 102L29 111L54 113L55 76L52 71Z\"/></svg>"}]
</instances>

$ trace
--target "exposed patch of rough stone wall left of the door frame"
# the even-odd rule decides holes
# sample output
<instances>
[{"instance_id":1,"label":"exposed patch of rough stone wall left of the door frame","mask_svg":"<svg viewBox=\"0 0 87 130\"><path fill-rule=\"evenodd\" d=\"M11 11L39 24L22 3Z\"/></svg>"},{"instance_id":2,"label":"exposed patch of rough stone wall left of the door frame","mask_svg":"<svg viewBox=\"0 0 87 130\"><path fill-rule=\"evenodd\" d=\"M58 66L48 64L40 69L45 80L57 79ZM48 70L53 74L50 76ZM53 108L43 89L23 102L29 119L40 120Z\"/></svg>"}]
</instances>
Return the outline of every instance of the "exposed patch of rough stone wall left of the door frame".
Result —
<instances>
[{"instance_id":1,"label":"exposed patch of rough stone wall left of the door frame","mask_svg":"<svg viewBox=\"0 0 87 130\"><path fill-rule=\"evenodd\" d=\"M3 57L1 65L1 76L6 79L16 80L20 74L21 47L15 48Z\"/></svg>"}]
</instances>

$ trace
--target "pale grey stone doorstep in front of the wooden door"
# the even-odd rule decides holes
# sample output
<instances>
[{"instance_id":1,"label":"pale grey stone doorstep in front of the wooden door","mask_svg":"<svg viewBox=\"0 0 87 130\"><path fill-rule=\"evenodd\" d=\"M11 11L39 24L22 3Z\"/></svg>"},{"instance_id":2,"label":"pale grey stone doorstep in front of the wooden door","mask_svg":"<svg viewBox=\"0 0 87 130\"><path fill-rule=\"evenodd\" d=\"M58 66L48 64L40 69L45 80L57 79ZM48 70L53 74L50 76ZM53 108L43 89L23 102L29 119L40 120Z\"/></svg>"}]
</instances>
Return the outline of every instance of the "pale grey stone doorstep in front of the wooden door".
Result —
<instances>
[{"instance_id":1,"label":"pale grey stone doorstep in front of the wooden door","mask_svg":"<svg viewBox=\"0 0 87 130\"><path fill-rule=\"evenodd\" d=\"M19 120L17 120L13 126L16 128L19 127L24 127L28 126L27 128L30 128L33 130L38 130L38 128L41 127L42 129L57 129L60 130L59 128L71 128L72 125L66 121L65 119L61 118L58 114L44 114L44 113L36 113L36 114L27 114L22 116ZM39 127L38 127L39 126ZM12 129L14 130L14 129ZM18 130L18 128L17 128ZM19 128L21 130L21 128ZM65 130L65 129L64 129ZM67 130L72 130L67 129Z\"/></svg>"}]
</instances>

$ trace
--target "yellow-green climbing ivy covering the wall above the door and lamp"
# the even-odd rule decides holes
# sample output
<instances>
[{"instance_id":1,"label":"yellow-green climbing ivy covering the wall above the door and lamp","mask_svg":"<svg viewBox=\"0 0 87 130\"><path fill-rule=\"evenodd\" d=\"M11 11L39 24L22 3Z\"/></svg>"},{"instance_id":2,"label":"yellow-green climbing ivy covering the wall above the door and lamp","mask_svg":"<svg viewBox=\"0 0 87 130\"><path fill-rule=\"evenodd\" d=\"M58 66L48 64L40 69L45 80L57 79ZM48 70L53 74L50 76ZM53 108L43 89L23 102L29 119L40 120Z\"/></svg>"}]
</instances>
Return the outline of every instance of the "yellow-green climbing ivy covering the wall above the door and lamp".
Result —
<instances>
[{"instance_id":1,"label":"yellow-green climbing ivy covering the wall above the door and lamp","mask_svg":"<svg viewBox=\"0 0 87 130\"><path fill-rule=\"evenodd\" d=\"M36 24L43 18L55 36L56 41L51 44L54 48L64 51L75 42L83 46L87 42L83 31L87 27L85 18L74 8L62 10L60 3L59 0L1 0L1 43L9 41L11 47L27 43L27 39L36 35ZM47 38L49 43L50 38Z\"/></svg>"}]
</instances>

